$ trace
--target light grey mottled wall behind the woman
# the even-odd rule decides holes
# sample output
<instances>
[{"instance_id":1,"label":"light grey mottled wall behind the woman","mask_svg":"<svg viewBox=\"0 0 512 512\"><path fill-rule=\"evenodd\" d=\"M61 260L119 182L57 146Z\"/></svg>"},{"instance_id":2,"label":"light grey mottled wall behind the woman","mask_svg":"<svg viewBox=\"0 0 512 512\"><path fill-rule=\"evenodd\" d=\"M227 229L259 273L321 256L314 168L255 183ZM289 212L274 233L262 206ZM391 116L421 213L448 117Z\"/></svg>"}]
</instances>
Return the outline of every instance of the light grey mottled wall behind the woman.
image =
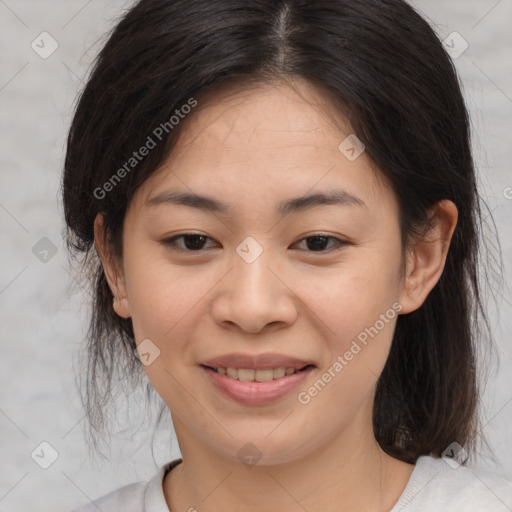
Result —
<instances>
[{"instance_id":1,"label":"light grey mottled wall behind the woman","mask_svg":"<svg viewBox=\"0 0 512 512\"><path fill-rule=\"evenodd\" d=\"M441 39L456 31L469 44L454 61L472 115L481 191L496 220L505 271L510 275L512 189L507 187L512 187L512 0L414 3ZM86 328L88 297L80 288L70 287L73 280L61 237L58 187L66 130L76 93L102 37L130 4L0 0L2 512L65 512L85 503L87 497L146 480L158 465L179 456L173 434L162 429L153 460L151 429L146 425L134 439L128 433L114 439L108 461L89 460L73 373ZM47 59L31 48L43 31L59 45ZM47 262L32 251L43 237L57 249L55 255L49 253ZM507 274L503 280L507 281ZM509 479L511 302L505 288L498 307L490 305L500 364L492 369L483 414L484 434L495 457L485 455L479 460L479 466ZM130 407L132 417L140 418L137 404ZM58 452L46 470L31 458L43 441ZM43 452L47 457L48 449ZM41 454L41 448L36 453Z\"/></svg>"}]
</instances>

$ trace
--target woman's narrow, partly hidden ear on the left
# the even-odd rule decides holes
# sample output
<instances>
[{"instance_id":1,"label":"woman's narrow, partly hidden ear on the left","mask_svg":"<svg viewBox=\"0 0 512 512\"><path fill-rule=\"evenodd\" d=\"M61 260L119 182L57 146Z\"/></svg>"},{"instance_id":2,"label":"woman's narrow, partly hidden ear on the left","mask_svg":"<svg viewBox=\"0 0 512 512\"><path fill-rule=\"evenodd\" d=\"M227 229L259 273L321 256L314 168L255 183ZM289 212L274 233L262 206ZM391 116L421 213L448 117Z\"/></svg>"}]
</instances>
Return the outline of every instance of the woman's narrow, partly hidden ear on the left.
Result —
<instances>
[{"instance_id":1,"label":"woman's narrow, partly hidden ear on the left","mask_svg":"<svg viewBox=\"0 0 512 512\"><path fill-rule=\"evenodd\" d=\"M113 297L114 311L123 318L129 318L130 305L126 294L126 283L122 266L111 254L107 243L103 215L98 213L94 219L94 245L103 265L103 271L107 278Z\"/></svg>"}]
</instances>

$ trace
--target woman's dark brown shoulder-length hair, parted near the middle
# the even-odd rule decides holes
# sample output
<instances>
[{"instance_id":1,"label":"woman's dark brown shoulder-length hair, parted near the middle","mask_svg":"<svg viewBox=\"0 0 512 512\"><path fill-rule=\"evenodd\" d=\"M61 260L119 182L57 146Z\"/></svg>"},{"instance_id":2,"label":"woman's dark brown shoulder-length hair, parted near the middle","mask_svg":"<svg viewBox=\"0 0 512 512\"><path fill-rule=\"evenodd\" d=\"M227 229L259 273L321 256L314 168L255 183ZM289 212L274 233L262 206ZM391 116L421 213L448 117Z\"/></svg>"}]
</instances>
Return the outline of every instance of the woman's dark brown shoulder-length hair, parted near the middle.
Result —
<instances>
[{"instance_id":1,"label":"woman's dark brown shoulder-length hair, parted near the middle","mask_svg":"<svg viewBox=\"0 0 512 512\"><path fill-rule=\"evenodd\" d=\"M143 375L131 320L114 312L94 250L96 215L122 256L127 206L186 126L186 118L169 124L171 116L236 81L287 77L309 81L348 118L396 194L403 248L428 226L430 206L449 199L458 208L439 282L397 320L373 421L383 450L403 461L439 456L453 441L470 451L481 327L490 332L479 283L484 203L453 63L402 0L141 0L119 21L79 98L62 181L68 248L93 285L83 390L91 431L104 427L113 382L135 385ZM165 123L156 147L105 191Z\"/></svg>"}]
</instances>

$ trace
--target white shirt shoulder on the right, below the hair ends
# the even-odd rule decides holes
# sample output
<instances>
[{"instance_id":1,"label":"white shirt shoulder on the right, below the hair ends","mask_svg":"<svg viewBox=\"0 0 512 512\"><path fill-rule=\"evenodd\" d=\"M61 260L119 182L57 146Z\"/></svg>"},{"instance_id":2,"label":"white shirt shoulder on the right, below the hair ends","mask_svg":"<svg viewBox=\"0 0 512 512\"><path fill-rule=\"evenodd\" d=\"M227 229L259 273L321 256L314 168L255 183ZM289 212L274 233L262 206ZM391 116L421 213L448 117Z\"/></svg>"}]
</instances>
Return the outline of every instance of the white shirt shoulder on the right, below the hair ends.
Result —
<instances>
[{"instance_id":1,"label":"white shirt shoulder on the right, below the hair ends","mask_svg":"<svg viewBox=\"0 0 512 512\"><path fill-rule=\"evenodd\" d=\"M432 510L510 512L512 482L489 471L422 456L391 512Z\"/></svg>"}]
</instances>

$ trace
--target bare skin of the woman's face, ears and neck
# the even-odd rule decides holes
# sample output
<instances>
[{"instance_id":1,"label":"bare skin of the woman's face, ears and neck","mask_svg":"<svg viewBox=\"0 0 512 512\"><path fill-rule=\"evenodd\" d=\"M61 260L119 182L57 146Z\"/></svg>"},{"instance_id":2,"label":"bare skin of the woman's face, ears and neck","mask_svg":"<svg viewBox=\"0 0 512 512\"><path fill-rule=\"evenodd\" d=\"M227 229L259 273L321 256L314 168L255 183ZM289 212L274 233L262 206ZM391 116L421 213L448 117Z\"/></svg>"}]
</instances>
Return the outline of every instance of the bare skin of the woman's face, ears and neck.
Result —
<instances>
[{"instance_id":1,"label":"bare skin of the woman's face, ears and neck","mask_svg":"<svg viewBox=\"0 0 512 512\"><path fill-rule=\"evenodd\" d=\"M310 403L297 394L393 303L400 314L421 306L441 276L457 209L447 200L433 207L432 229L403 261L394 193L366 153L349 161L338 150L352 132L332 111L301 80L218 93L187 119L172 155L137 190L122 261L109 257L96 219L115 311L132 318L137 343L149 338L161 351L144 369L171 411L183 455L163 484L174 512L387 511L414 469L385 454L372 429L397 316ZM275 214L282 200L329 188L366 208ZM168 190L212 196L233 211L148 206ZM191 231L208 237L196 242L200 252L162 243ZM315 251L305 238L319 232L348 243L327 239ZM236 252L247 236L263 249L250 264ZM176 241L186 251L184 242ZM198 366L230 352L277 352L317 368L285 398L246 406L214 389ZM250 467L237 457L248 442L261 452Z\"/></svg>"}]
</instances>

